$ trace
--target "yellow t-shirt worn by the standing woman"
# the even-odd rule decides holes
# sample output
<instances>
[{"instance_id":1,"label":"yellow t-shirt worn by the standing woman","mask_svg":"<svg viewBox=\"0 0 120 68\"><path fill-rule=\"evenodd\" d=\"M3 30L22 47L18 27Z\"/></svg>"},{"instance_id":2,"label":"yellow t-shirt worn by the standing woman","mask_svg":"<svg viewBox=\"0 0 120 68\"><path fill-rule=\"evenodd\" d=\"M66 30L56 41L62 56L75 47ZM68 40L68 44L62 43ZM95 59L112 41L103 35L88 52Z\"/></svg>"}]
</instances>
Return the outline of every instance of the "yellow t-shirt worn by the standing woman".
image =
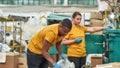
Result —
<instances>
[{"instance_id":1,"label":"yellow t-shirt worn by the standing woman","mask_svg":"<svg viewBox=\"0 0 120 68\"><path fill-rule=\"evenodd\" d=\"M86 56L86 48L85 48L85 32L87 31L87 27L85 26L72 26L71 31L65 36L68 40L74 40L75 38L82 38L81 43L73 43L68 46L68 56L73 57L84 57Z\"/></svg>"}]
</instances>

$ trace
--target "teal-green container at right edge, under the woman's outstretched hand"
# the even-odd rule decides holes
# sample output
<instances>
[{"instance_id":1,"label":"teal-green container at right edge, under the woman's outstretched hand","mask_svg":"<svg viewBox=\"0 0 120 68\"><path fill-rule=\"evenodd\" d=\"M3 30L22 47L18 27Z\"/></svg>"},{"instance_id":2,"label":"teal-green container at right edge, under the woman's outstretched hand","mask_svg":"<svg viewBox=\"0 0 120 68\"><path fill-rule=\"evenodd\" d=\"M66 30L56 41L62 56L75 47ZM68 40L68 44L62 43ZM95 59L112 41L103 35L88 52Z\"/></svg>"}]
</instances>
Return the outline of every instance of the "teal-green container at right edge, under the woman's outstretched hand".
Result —
<instances>
[{"instance_id":1,"label":"teal-green container at right edge, under the woman's outstretched hand","mask_svg":"<svg viewBox=\"0 0 120 68\"><path fill-rule=\"evenodd\" d=\"M109 62L120 62L120 30L108 30Z\"/></svg>"}]
</instances>

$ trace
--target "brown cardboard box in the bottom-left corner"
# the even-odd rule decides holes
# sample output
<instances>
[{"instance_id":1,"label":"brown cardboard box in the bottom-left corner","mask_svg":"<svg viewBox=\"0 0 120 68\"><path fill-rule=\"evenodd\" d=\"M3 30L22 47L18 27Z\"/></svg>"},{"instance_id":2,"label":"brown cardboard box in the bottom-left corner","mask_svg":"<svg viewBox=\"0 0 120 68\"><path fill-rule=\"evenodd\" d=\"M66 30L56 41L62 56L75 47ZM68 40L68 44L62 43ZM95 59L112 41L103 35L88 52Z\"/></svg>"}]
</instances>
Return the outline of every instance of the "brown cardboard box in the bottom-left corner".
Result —
<instances>
[{"instance_id":1,"label":"brown cardboard box in the bottom-left corner","mask_svg":"<svg viewBox=\"0 0 120 68\"><path fill-rule=\"evenodd\" d=\"M18 54L7 53L6 62L0 63L0 68L18 68Z\"/></svg>"}]
</instances>

